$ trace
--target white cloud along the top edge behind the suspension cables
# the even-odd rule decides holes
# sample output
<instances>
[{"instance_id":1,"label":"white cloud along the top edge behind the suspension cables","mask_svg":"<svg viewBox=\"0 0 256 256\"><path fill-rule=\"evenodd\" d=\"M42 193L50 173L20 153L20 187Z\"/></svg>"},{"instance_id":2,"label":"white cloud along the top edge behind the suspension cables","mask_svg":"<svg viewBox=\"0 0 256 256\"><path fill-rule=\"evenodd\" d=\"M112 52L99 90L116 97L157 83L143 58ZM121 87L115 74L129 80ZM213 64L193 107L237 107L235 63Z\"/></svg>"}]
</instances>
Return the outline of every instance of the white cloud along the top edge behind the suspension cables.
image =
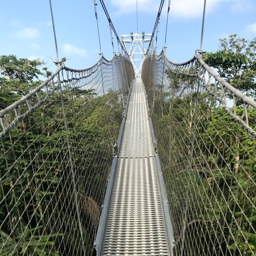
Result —
<instances>
[{"instance_id":1,"label":"white cloud along the top edge behind the suspension cables","mask_svg":"<svg viewBox=\"0 0 256 256\"><path fill-rule=\"evenodd\" d=\"M214 10L221 2L233 2L238 0L208 0L206 2L206 12ZM136 0L111 0L111 3L118 7L119 13L136 12ZM167 4L167 2L166 2ZM159 2L155 0L138 0L138 11L155 13L159 9ZM170 2L170 15L176 18L195 18L203 14L203 0L172 0ZM167 5L162 9L162 14L166 13Z\"/></svg>"}]
</instances>

